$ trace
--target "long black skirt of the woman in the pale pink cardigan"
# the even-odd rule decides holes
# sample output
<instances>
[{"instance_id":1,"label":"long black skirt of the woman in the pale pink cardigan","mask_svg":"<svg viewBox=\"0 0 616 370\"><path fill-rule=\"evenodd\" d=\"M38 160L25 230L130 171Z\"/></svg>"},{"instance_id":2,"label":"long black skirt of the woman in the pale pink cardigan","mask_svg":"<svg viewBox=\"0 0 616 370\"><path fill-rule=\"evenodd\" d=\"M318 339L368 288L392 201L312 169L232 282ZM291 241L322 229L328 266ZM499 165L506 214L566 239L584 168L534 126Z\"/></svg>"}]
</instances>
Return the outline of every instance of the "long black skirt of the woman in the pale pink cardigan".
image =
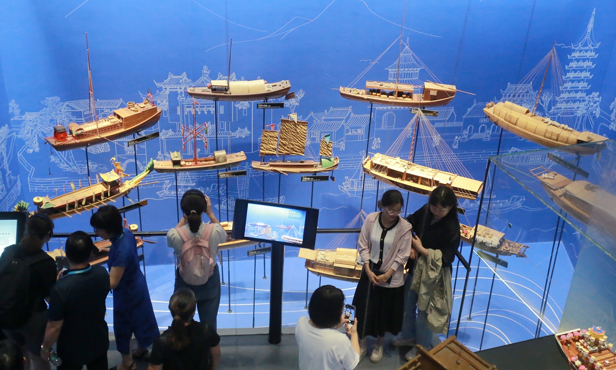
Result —
<instances>
[{"instance_id":1,"label":"long black skirt of the woman in the pale pink cardigan","mask_svg":"<svg viewBox=\"0 0 616 370\"><path fill-rule=\"evenodd\" d=\"M402 330L404 312L404 286L385 288L375 286L365 271L353 297L355 317L359 323L357 334L363 339L383 337L386 332L397 335Z\"/></svg>"}]
</instances>

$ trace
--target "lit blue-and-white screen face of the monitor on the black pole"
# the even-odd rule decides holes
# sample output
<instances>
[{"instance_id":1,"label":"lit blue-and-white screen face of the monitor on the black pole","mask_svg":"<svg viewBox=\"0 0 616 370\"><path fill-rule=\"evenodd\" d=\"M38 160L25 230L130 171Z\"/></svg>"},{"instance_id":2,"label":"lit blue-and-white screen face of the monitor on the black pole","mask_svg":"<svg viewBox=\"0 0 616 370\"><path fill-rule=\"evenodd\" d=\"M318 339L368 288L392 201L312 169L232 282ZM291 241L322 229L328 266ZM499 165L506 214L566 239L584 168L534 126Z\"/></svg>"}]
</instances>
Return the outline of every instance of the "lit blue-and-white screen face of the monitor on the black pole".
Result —
<instances>
[{"instance_id":1,"label":"lit blue-and-white screen face of the monitor on the black pole","mask_svg":"<svg viewBox=\"0 0 616 370\"><path fill-rule=\"evenodd\" d=\"M248 204L244 235L291 244L304 242L306 211Z\"/></svg>"}]
</instances>

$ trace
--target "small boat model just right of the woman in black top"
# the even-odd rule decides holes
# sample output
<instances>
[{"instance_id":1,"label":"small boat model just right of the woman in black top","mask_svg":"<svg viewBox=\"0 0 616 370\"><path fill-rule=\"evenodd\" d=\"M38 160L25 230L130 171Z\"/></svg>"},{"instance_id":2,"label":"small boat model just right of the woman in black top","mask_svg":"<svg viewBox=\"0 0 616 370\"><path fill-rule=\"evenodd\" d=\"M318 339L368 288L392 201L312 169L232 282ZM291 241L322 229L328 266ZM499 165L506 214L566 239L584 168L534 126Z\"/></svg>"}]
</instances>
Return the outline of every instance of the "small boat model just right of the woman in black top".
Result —
<instances>
[{"instance_id":1,"label":"small boat model just right of the woman in black top","mask_svg":"<svg viewBox=\"0 0 616 370\"><path fill-rule=\"evenodd\" d=\"M460 237L462 241L472 244L472 237L474 235L475 228L460 224ZM487 228L483 225L477 225L475 248L494 253L496 256L526 257L524 252L529 249L529 246L508 241L505 239L505 234L503 232Z\"/></svg>"}]
</instances>

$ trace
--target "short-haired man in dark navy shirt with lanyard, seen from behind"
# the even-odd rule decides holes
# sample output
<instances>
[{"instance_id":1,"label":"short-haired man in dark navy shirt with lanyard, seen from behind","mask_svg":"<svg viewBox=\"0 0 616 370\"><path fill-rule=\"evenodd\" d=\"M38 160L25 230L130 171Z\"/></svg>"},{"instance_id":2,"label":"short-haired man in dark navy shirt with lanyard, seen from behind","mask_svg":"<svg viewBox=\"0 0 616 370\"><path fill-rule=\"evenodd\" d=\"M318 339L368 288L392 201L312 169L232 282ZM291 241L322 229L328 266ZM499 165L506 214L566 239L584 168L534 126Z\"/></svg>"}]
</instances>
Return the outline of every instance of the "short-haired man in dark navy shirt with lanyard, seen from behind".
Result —
<instances>
[{"instance_id":1,"label":"short-haired man in dark navy shirt with lanyard, seen from behind","mask_svg":"<svg viewBox=\"0 0 616 370\"><path fill-rule=\"evenodd\" d=\"M47 329L41 356L48 359L57 340L62 360L58 370L107 370L109 332L105 322L105 300L110 289L109 274L102 266L90 266L94 244L83 231L67 239L67 271L51 290Z\"/></svg>"}]
</instances>

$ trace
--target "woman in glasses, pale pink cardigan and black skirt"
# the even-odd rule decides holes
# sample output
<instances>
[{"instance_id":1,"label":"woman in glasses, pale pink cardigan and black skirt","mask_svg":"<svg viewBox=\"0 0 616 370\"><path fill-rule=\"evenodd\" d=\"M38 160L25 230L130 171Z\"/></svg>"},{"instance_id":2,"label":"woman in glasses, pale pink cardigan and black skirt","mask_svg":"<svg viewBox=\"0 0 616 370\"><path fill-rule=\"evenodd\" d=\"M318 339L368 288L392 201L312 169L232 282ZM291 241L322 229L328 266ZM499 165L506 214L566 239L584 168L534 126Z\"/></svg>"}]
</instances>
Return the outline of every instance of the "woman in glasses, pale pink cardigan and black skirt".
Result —
<instances>
[{"instance_id":1,"label":"woman in glasses, pale pink cardigan and black skirt","mask_svg":"<svg viewBox=\"0 0 616 370\"><path fill-rule=\"evenodd\" d=\"M404 199L399 191L384 192L381 212L366 217L359 236L362 276L355 289L353 305L361 339L360 358L367 353L366 337L376 337L370 361L383 358L386 332L397 335L402 329L404 265L411 253L411 224L400 216Z\"/></svg>"}]
</instances>

